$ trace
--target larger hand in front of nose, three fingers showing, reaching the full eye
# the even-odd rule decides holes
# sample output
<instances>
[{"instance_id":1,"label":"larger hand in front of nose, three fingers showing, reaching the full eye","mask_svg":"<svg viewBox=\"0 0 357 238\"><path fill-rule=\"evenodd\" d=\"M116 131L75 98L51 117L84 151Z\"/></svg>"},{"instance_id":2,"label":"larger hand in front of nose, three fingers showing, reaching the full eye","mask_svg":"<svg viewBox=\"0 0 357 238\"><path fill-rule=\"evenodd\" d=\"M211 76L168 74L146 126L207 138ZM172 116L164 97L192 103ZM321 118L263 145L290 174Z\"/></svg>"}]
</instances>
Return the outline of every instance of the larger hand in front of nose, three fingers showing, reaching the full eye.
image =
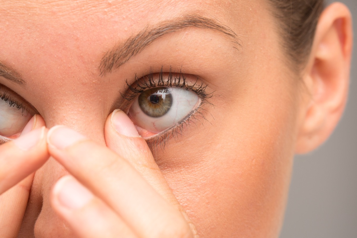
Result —
<instances>
[{"instance_id":1,"label":"larger hand in front of nose, three fingers showing, reaching the full eye","mask_svg":"<svg viewBox=\"0 0 357 238\"><path fill-rule=\"evenodd\" d=\"M51 156L71 174L57 181L51 204L77 236L196 237L124 112L108 118L105 138L109 148L64 126L47 136Z\"/></svg>"}]
</instances>

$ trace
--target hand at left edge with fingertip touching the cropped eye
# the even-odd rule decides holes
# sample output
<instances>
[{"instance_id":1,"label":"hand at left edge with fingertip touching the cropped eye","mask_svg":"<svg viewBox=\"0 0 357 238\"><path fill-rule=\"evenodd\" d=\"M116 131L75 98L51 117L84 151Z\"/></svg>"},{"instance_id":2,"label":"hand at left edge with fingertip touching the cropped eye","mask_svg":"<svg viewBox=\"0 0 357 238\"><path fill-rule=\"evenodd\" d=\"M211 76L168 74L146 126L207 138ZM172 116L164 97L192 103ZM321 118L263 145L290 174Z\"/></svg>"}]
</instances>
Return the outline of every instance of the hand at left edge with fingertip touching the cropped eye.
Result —
<instances>
[{"instance_id":1,"label":"hand at left edge with fingertip touching the cropped eye","mask_svg":"<svg viewBox=\"0 0 357 238\"><path fill-rule=\"evenodd\" d=\"M35 115L22 136L0 146L0 237L17 236L34 172L49 158L44 125Z\"/></svg>"}]
</instances>

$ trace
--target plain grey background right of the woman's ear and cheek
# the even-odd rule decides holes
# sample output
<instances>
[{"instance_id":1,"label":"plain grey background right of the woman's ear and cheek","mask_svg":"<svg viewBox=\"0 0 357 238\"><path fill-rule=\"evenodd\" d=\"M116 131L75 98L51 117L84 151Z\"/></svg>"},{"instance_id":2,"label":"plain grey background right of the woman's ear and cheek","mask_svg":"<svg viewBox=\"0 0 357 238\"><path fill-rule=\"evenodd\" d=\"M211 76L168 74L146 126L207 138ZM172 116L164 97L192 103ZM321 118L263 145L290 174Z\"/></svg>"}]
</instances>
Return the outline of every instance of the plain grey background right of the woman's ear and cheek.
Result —
<instances>
[{"instance_id":1,"label":"plain grey background right of the woman's ear and cheek","mask_svg":"<svg viewBox=\"0 0 357 238\"><path fill-rule=\"evenodd\" d=\"M346 111L324 145L296 156L280 238L357 238L357 0L341 2L355 32Z\"/></svg>"}]
</instances>

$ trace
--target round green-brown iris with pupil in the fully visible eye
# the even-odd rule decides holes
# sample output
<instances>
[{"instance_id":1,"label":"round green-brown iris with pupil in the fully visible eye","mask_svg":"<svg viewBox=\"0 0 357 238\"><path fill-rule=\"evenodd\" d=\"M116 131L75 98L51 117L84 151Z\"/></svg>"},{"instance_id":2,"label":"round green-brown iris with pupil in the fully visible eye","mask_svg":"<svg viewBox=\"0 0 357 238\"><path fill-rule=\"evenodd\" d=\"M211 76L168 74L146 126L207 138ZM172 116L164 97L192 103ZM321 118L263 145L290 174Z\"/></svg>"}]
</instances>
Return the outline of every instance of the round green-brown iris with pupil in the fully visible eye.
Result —
<instances>
[{"instance_id":1,"label":"round green-brown iris with pupil in the fully visible eye","mask_svg":"<svg viewBox=\"0 0 357 238\"><path fill-rule=\"evenodd\" d=\"M138 98L141 110L150 117L164 116L172 106L172 95L167 87L151 88Z\"/></svg>"}]
</instances>

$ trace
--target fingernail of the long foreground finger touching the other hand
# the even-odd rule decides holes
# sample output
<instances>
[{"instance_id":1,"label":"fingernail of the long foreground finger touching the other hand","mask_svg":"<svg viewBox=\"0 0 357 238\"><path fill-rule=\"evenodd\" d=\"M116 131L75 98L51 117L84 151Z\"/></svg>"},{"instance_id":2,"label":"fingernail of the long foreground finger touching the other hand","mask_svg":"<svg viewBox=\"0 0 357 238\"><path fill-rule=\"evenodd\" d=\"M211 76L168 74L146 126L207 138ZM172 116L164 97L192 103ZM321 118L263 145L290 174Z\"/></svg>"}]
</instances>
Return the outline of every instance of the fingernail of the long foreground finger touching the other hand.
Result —
<instances>
[{"instance_id":1,"label":"fingernail of the long foreground finger touching the other hand","mask_svg":"<svg viewBox=\"0 0 357 238\"><path fill-rule=\"evenodd\" d=\"M47 143L60 150L73 145L77 141L84 140L85 138L85 136L66 126L54 126L47 133Z\"/></svg>"}]
</instances>

